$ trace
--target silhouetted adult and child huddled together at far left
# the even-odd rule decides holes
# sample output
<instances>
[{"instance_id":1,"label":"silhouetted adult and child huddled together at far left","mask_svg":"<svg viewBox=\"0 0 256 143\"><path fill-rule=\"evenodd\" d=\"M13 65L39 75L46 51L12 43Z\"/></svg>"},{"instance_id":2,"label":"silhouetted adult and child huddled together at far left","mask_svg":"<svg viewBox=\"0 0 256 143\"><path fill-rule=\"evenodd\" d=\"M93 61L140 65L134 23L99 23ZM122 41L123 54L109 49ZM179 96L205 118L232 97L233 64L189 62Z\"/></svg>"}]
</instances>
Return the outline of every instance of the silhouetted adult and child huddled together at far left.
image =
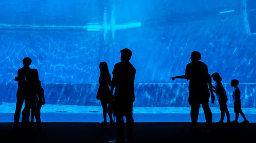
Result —
<instances>
[{"instance_id":1,"label":"silhouetted adult and child huddled together at far left","mask_svg":"<svg viewBox=\"0 0 256 143\"><path fill-rule=\"evenodd\" d=\"M15 81L18 81L17 90L17 103L14 113L14 125L15 128L19 127L20 112L22 110L23 103L25 101L25 107L22 111L22 129L28 129L30 126L29 117L30 110L32 111L31 119L35 117L38 125L37 131L42 130L40 119L40 107L45 104L44 91L40 87L40 81L38 77L38 71L36 69L30 69L29 66L32 60L30 58L23 59L24 67L18 70L18 76L15 77ZM39 97L41 98L39 100ZM39 103L40 102L40 103Z\"/></svg>"}]
</instances>

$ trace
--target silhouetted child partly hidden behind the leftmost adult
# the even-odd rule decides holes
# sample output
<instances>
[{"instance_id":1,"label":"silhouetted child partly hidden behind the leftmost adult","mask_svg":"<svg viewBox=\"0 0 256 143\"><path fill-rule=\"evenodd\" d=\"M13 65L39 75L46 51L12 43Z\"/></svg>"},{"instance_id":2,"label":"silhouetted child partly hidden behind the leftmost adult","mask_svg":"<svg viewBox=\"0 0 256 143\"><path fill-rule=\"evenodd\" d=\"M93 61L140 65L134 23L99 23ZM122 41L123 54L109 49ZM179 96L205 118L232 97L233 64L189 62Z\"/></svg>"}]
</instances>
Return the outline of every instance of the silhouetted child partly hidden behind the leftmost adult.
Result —
<instances>
[{"instance_id":1,"label":"silhouetted child partly hidden behind the leftmost adult","mask_svg":"<svg viewBox=\"0 0 256 143\"><path fill-rule=\"evenodd\" d=\"M41 87L41 81L38 80L38 88L37 88L37 96L39 98L38 102L36 103L37 106L37 113L38 116L40 117L41 115L41 107L42 105L46 104L45 101L45 90ZM34 117L35 117L35 113L33 110L31 110L31 123L34 123Z\"/></svg>"}]
</instances>

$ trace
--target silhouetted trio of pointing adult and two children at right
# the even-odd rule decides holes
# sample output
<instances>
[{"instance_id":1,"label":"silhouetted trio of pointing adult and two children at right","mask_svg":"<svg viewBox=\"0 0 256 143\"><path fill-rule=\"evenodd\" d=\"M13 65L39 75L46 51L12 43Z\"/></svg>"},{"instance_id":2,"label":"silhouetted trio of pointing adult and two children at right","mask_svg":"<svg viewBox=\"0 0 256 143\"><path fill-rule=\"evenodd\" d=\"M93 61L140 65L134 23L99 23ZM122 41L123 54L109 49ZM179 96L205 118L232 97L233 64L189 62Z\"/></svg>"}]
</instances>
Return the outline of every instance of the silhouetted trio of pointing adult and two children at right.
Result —
<instances>
[{"instance_id":1,"label":"silhouetted trio of pointing adult and two children at right","mask_svg":"<svg viewBox=\"0 0 256 143\"><path fill-rule=\"evenodd\" d=\"M211 97L211 103L215 101L215 92L217 94L217 98L220 104L221 110L221 120L217 122L217 124L223 124L225 112L227 116L227 123L230 123L230 116L229 111L227 108L227 95L226 91L223 88L221 83L222 78L220 77L219 73L212 74L212 78L216 81L215 87L211 84L211 76L208 73L207 66L201 62L201 54L198 51L193 51L190 55L191 63L187 64L185 75L171 77L173 80L176 78L185 78L189 80L189 96L188 96L188 103L191 106L190 116L192 127L191 131L197 131L197 120L199 115L199 107L202 104L205 120L206 120L206 128L207 132L212 132L212 114L209 107L209 97ZM233 79L231 81L231 86L234 87L233 92L233 101L234 101L234 112L236 113L236 120L232 123L238 123L239 113L244 118L243 124L248 124L248 120L246 120L244 113L241 110L241 101L240 101L240 90L238 89L238 80ZM214 90L214 89L215 90Z\"/></svg>"}]
</instances>

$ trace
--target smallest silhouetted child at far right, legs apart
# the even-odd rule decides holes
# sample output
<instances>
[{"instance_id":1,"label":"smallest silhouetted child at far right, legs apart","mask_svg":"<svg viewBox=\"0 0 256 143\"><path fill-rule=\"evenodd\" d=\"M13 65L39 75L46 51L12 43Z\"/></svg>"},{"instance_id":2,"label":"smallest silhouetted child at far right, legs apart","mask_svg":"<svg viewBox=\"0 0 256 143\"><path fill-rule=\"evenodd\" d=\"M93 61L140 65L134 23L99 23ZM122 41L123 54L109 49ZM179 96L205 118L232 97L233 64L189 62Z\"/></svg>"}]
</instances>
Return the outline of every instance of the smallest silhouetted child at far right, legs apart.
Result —
<instances>
[{"instance_id":1,"label":"smallest silhouetted child at far right, legs apart","mask_svg":"<svg viewBox=\"0 0 256 143\"><path fill-rule=\"evenodd\" d=\"M232 123L237 124L238 123L238 117L239 117L239 113L242 115L242 117L244 118L244 121L242 122L242 124L249 124L249 121L245 118L244 113L241 109L241 100L240 100L240 90L238 88L238 84L239 81L237 79L232 79L231 80L231 87L234 87L234 91L232 94L233 97L233 102L234 102L234 112L236 113L236 119L234 121L232 121Z\"/></svg>"}]
</instances>

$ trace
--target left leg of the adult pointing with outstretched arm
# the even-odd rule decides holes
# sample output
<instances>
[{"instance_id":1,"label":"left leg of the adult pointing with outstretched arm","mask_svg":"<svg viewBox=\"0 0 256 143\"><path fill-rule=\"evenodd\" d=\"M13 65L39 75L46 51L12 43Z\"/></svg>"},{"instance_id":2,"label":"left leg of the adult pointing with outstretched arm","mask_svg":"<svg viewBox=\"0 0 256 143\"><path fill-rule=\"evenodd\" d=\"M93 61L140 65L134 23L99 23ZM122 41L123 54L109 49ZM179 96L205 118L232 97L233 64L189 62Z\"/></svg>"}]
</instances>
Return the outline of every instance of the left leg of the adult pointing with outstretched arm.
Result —
<instances>
[{"instance_id":1,"label":"left leg of the adult pointing with outstretched arm","mask_svg":"<svg viewBox=\"0 0 256 143\"><path fill-rule=\"evenodd\" d=\"M193 102L191 104L191 110L190 110L190 117L191 117L191 122L192 122L192 129L197 128L197 120L198 120L198 114L199 114L199 107L200 104Z\"/></svg>"}]
</instances>

